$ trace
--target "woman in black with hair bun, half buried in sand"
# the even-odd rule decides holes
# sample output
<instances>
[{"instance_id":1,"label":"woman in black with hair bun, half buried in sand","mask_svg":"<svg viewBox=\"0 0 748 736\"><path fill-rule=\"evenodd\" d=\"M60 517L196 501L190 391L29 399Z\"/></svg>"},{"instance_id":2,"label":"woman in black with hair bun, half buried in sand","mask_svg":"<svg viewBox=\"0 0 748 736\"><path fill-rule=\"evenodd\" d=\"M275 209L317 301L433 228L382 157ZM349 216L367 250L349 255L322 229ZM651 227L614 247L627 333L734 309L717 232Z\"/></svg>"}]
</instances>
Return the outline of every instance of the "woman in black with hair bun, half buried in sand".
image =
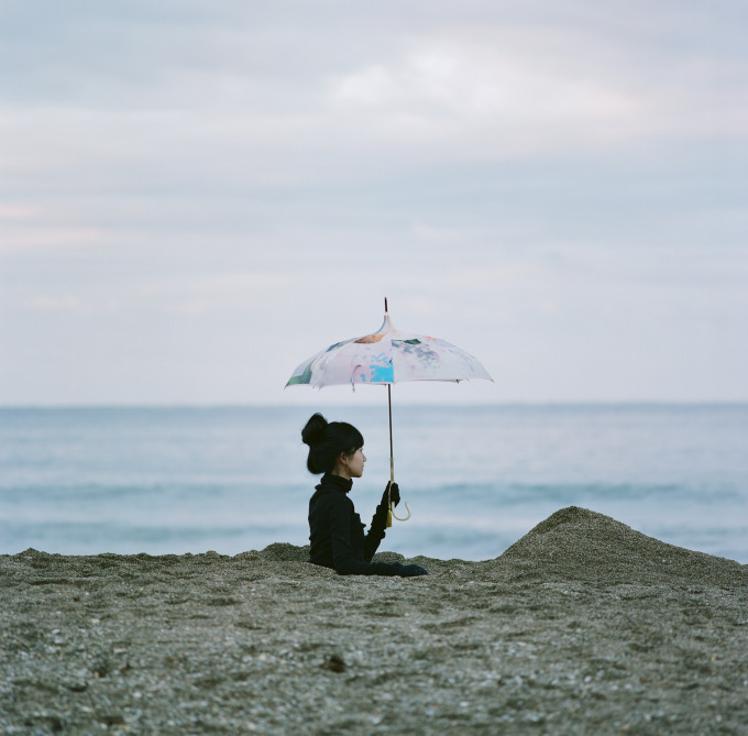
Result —
<instances>
[{"instance_id":1,"label":"woman in black with hair bun, half buried in sand","mask_svg":"<svg viewBox=\"0 0 748 736\"><path fill-rule=\"evenodd\" d=\"M309 562L332 568L341 575L427 575L417 564L372 562L387 526L387 490L394 504L399 502L400 492L397 483L392 488L387 484L364 536L364 525L348 497L353 479L362 476L366 462L361 432L348 422L328 422L321 414L315 414L301 430L301 440L309 446L309 472L324 473L309 501Z\"/></svg>"}]
</instances>

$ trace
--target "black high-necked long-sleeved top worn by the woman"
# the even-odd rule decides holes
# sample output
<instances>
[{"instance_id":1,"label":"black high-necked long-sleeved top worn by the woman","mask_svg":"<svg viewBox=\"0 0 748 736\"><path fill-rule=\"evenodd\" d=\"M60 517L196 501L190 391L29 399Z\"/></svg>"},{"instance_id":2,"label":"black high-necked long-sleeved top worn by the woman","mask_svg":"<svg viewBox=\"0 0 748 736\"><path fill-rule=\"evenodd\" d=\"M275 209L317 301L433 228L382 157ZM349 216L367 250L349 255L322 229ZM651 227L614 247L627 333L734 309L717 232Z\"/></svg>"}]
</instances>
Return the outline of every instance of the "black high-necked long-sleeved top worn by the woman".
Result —
<instances>
[{"instance_id":1,"label":"black high-necked long-sleeved top worn by the woman","mask_svg":"<svg viewBox=\"0 0 748 736\"><path fill-rule=\"evenodd\" d=\"M392 565L372 563L387 526L386 501L377 506L364 536L364 524L348 497L352 486L353 481L328 473L309 499L309 562L341 575L392 575Z\"/></svg>"}]
</instances>

